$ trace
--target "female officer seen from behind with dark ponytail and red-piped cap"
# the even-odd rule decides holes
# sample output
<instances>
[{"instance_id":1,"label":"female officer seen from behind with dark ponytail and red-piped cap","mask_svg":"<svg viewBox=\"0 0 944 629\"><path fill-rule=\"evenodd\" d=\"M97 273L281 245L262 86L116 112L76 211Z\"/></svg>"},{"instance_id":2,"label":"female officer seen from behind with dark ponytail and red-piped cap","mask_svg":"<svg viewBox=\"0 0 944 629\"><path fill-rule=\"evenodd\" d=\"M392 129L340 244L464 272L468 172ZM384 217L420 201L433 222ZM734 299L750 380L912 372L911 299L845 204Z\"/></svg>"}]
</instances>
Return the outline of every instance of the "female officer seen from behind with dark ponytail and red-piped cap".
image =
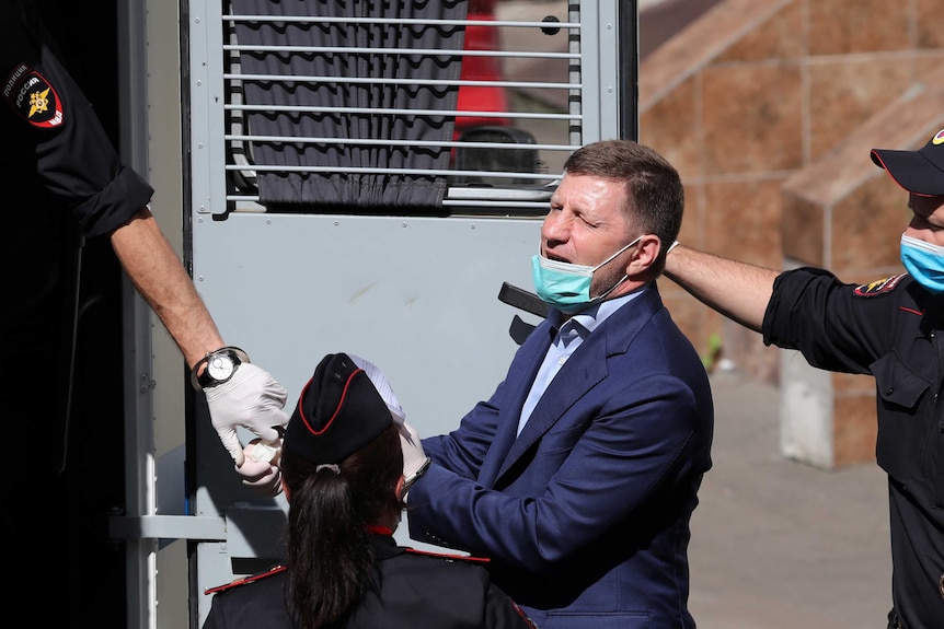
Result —
<instances>
[{"instance_id":1,"label":"female officer seen from behind with dark ponytail and red-piped cap","mask_svg":"<svg viewBox=\"0 0 944 629\"><path fill-rule=\"evenodd\" d=\"M302 389L279 466L287 567L208 590L204 629L533 629L472 557L398 546L404 416L383 374L326 356Z\"/></svg>"}]
</instances>

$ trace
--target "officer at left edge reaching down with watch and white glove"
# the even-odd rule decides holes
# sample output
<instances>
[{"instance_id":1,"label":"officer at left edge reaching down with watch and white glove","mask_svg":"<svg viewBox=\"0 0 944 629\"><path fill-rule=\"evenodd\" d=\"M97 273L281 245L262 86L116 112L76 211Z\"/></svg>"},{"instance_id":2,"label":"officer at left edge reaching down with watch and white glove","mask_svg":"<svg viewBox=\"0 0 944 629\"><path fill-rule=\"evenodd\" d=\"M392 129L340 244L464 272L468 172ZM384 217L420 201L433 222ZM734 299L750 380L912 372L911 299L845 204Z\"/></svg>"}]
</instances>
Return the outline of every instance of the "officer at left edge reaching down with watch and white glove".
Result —
<instances>
[{"instance_id":1,"label":"officer at left edge reaching down with watch and white glove","mask_svg":"<svg viewBox=\"0 0 944 629\"><path fill-rule=\"evenodd\" d=\"M96 39L107 31L96 10L0 0L0 534L12 569L0 602L44 625L123 627L123 551L107 536L124 501L120 269L195 369L241 474L251 466L235 428L277 442L288 415L285 389L251 362L226 383L205 371L226 343L148 210L151 186L120 162L60 62L81 40L60 46L47 27ZM64 24L64 11L91 16ZM246 480L270 484L264 467L253 462Z\"/></svg>"}]
</instances>

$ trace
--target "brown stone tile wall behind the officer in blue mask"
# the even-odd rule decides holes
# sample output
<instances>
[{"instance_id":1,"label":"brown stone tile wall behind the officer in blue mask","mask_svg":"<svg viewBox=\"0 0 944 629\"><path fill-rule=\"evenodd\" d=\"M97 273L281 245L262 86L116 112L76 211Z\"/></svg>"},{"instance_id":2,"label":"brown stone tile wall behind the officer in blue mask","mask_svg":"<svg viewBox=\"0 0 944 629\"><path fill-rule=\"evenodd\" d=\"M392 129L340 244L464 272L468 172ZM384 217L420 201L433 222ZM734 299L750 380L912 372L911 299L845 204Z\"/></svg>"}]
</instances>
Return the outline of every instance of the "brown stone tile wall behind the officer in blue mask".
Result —
<instances>
[{"instance_id":1,"label":"brown stone tile wall behind the officer in blue mask","mask_svg":"<svg viewBox=\"0 0 944 629\"><path fill-rule=\"evenodd\" d=\"M942 12L944 0L725 0L646 57L640 141L682 175L680 241L856 283L900 272L907 196L868 150L918 148L944 127ZM669 280L660 290L710 364L785 384L780 350ZM873 386L831 376L831 456L813 463L874 458Z\"/></svg>"}]
</instances>

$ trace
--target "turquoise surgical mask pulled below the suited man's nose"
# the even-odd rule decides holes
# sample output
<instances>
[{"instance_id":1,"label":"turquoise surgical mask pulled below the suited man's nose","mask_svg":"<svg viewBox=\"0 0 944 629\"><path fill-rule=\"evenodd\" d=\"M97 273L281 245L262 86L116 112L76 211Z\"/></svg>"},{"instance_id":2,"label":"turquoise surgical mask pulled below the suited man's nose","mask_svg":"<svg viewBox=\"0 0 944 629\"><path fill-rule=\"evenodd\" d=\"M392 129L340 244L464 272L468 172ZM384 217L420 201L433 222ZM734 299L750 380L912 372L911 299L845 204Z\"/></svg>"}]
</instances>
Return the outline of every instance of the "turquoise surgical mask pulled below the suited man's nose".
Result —
<instances>
[{"instance_id":1,"label":"turquoise surgical mask pulled below the suited man's nose","mask_svg":"<svg viewBox=\"0 0 944 629\"><path fill-rule=\"evenodd\" d=\"M538 296L567 314L574 314L606 299L618 286L626 281L628 276L623 276L623 279L610 287L603 294L591 299L590 284L594 281L594 271L612 261L617 256L640 242L642 237L634 240L595 267L552 260L540 254L533 256L531 258L531 272L534 276L534 289L538 291Z\"/></svg>"}]
</instances>

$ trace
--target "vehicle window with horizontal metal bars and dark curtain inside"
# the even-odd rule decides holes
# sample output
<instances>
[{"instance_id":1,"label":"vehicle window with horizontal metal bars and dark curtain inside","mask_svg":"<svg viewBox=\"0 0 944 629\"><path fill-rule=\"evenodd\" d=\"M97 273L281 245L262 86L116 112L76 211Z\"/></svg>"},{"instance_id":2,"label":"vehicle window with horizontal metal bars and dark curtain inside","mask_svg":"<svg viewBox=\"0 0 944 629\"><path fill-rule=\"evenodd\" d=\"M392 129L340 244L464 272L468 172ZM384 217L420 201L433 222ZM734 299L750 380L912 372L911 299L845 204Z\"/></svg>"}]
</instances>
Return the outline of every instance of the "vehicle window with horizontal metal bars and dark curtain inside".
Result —
<instances>
[{"instance_id":1,"label":"vehicle window with horizontal metal bars and dark curtain inside","mask_svg":"<svg viewBox=\"0 0 944 629\"><path fill-rule=\"evenodd\" d=\"M576 148L634 129L619 9L192 4L191 40L206 44L191 50L196 211L543 213Z\"/></svg>"}]
</instances>

